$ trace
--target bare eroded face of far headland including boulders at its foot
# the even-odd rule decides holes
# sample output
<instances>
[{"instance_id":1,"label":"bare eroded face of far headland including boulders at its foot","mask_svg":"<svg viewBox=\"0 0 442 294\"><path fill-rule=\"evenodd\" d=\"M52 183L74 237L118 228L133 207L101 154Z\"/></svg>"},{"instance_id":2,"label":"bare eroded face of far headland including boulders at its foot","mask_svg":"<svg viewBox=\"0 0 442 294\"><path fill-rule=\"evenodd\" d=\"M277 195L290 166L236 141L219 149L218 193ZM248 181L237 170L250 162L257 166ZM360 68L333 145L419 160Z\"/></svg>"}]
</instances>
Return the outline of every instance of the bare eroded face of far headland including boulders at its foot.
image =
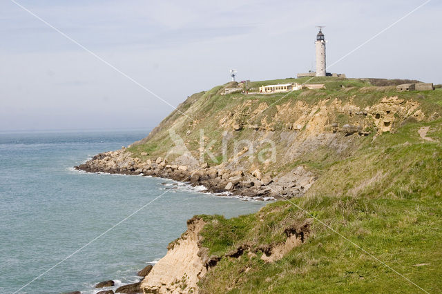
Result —
<instances>
[{"instance_id":1,"label":"bare eroded face of far headland including boulders at its foot","mask_svg":"<svg viewBox=\"0 0 442 294\"><path fill-rule=\"evenodd\" d=\"M300 99L309 95L316 101ZM342 160L358 150L365 136L376 138L385 132L394 133L409 118L425 119L418 101L397 96L385 96L365 106L361 101L356 104L354 96L343 100L312 90L299 96L276 105L262 99L235 101L233 109L226 106L212 110L194 121L182 117L173 120L171 115L147 141L142 140L146 146L163 146L155 153L160 156L142 151L144 145L138 143L128 149L99 154L77 168L168 177L206 186L214 193L227 190L259 199L291 198L306 193L316 179L308 166L291 163L311 157ZM189 109L195 112L203 108L201 104L202 101L194 100ZM224 144L224 140L230 143ZM171 152L174 148L184 151L175 154ZM219 160L211 161L206 153ZM209 162L201 162L201 155Z\"/></svg>"}]
</instances>

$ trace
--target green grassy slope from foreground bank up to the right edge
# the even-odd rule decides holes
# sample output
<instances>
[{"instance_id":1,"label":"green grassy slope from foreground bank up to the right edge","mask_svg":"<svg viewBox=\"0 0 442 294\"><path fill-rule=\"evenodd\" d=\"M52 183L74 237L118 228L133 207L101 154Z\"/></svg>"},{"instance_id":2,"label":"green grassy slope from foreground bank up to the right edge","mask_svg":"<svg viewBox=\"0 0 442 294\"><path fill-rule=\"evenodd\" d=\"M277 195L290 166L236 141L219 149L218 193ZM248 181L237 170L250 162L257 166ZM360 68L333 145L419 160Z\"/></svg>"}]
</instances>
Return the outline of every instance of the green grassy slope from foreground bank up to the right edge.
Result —
<instances>
[{"instance_id":1,"label":"green grassy slope from foreground bank up to the right edge","mask_svg":"<svg viewBox=\"0 0 442 294\"><path fill-rule=\"evenodd\" d=\"M442 140L442 121L431 125L439 128L433 135ZM280 242L285 225L314 216L426 291L440 292L442 149L440 144L410 140L419 126L386 135L327 168L306 197L291 199L311 215L277 202L253 215L217 217L203 233L204 245L222 255L242 242ZM414 142L403 146L405 139ZM366 181L379 171L385 175L377 182ZM225 293L226 288L231 293L419 291L318 221L307 242L280 261L266 264L259 256L247 255L222 259L201 286L203 293Z\"/></svg>"}]
</instances>

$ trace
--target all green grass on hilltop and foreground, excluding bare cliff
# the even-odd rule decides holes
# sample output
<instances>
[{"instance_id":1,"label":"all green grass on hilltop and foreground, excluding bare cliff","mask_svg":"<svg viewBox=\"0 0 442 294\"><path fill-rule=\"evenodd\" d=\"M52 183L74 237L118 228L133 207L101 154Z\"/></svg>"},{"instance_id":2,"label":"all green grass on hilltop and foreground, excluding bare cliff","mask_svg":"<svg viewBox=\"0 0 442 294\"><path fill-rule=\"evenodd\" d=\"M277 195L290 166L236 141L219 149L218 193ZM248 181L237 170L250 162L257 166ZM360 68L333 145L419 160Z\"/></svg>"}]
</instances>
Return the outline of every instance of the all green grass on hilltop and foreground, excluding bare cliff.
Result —
<instances>
[{"instance_id":1,"label":"all green grass on hilltop and foreground, excluding bare cliff","mask_svg":"<svg viewBox=\"0 0 442 294\"><path fill-rule=\"evenodd\" d=\"M287 81L304 80L253 82L251 86ZM280 101L278 99L285 94L266 95L259 99L267 104L278 101L276 104L281 105L287 101L302 100L313 105L318 99L329 97L343 101L352 99L358 106L369 106L382 97L397 95L401 99L419 101L426 117L434 112L439 113L439 117L442 114L440 89L398 93L394 88L370 88L360 80L315 78L311 82L323 81L327 82L325 90L292 92ZM341 89L341 84L347 88ZM238 94L220 96L216 95L218 90L220 87L198 93L191 97L192 103L180 106L180 110L198 120L191 121L173 112L149 141L130 150L137 157L141 157L143 151L149 153L149 158L164 156L164 150L173 146L167 133L169 128L173 128L198 156L199 133L193 130L204 125L204 135L210 139L219 138L222 130L216 114L235 112L238 105L247 99L253 101L257 98ZM256 108L260 101L253 102L252 108ZM271 117L276 112L275 108L272 106L265 110L249 123L260 124L262 117ZM340 124L351 122L351 118L345 115L336 119L340 119ZM430 126L432 133L428 133L427 137L433 137L439 143L423 141L417 133L422 126ZM188 130L192 132L186 136ZM276 126L275 132L282 132L282 126ZM236 139L251 137L253 130L244 129L236 136ZM437 293L442 290L441 141L442 119L408 120L397 126L392 134L385 133L376 139L374 135L361 138L358 148L350 156L340 157L333 150L322 149L297 162L269 168L289 170L305 164L314 170L319 175L314 186L305 197L291 201L426 291ZM214 146L214 150L219 148ZM204 246L210 248L211 253L222 256L242 243L258 247L282 242L288 224L302 223L311 215L287 202L276 202L258 213L233 219L203 216L209 222L203 232ZM294 248L280 261L266 264L259 255L249 257L247 254L238 259L223 258L204 277L200 286L203 293L419 291L316 220L307 242Z\"/></svg>"}]
</instances>

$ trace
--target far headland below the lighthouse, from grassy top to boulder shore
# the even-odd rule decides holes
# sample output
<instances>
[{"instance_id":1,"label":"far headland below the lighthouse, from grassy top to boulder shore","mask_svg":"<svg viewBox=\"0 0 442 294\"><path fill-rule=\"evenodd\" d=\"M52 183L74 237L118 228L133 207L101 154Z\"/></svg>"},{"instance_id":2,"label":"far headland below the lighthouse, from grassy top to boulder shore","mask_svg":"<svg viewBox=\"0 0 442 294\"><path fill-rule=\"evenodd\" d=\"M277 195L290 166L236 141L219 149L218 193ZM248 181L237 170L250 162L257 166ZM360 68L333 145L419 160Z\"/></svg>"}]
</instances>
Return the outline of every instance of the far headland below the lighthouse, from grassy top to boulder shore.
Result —
<instances>
[{"instance_id":1,"label":"far headland below the lighthouse, from grassy top to boulder shore","mask_svg":"<svg viewBox=\"0 0 442 294\"><path fill-rule=\"evenodd\" d=\"M303 80L250 86L253 90L287 81ZM441 113L440 90L396 92L394 86L332 77L310 82L324 83L325 88L222 95L230 83L197 93L145 139L97 155L79 168L169 177L214 193L291 198L305 195L336 162L358 158L361 149L383 144L385 137L408 127L423 126ZM419 141L415 132L410 139ZM358 179L360 184L367 180Z\"/></svg>"}]
</instances>

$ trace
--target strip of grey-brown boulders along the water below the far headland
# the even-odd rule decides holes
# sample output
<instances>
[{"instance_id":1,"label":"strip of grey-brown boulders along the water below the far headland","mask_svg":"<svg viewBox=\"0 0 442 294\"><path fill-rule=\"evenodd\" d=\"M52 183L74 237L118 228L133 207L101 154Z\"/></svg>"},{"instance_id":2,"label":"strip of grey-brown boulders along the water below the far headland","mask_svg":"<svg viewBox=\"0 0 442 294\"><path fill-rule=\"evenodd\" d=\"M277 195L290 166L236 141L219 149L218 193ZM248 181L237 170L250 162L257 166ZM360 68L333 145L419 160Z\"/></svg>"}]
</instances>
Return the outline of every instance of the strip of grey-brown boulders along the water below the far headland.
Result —
<instances>
[{"instance_id":1,"label":"strip of grey-brown boulders along the water below the far headland","mask_svg":"<svg viewBox=\"0 0 442 294\"><path fill-rule=\"evenodd\" d=\"M162 157L155 161L133 158L131 153L121 150L99 153L84 164L75 166L77 170L88 173L111 173L121 175L143 175L173 179L191 184L204 186L209 193L229 192L233 195L251 197L256 200L289 199L303 195L316 179L314 175L298 166L291 172L278 177L262 175L259 169L247 172L246 170L232 170L224 164L209 166L169 163Z\"/></svg>"}]
</instances>

